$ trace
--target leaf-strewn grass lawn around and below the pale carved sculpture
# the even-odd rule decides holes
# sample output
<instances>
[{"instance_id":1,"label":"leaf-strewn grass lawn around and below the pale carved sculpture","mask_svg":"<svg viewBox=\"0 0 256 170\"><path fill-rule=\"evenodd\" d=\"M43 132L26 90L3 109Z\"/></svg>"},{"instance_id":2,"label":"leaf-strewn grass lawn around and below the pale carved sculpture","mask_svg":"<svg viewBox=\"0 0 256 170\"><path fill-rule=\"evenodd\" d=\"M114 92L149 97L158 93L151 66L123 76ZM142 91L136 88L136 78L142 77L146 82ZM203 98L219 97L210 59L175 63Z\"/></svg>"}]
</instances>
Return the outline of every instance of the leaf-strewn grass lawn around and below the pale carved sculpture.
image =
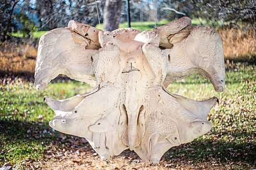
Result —
<instances>
[{"instance_id":1,"label":"leaf-strewn grass lawn around and below the pale carved sculpture","mask_svg":"<svg viewBox=\"0 0 256 170\"><path fill-rule=\"evenodd\" d=\"M256 168L255 66L237 63L228 66L226 71L226 90L223 93L215 92L207 80L197 75L169 85L169 91L194 100L217 96L220 104L208 115L211 131L191 143L170 149L162 157L160 169ZM2 78L0 167L8 162L16 169L49 169L54 162L57 166L68 161L71 161L71 167L80 167L77 169L94 165L95 168L112 169L113 162L117 164L115 167L119 167L119 161L128 162L120 166L122 169L142 166L141 160L131 151L125 151L109 162L101 161L98 156L92 156L94 152L84 139L49 127L48 122L54 113L42 101L45 95L66 99L91 89L84 83L56 80L46 90L37 91L32 82ZM66 169L69 169L68 165Z\"/></svg>"}]
</instances>

